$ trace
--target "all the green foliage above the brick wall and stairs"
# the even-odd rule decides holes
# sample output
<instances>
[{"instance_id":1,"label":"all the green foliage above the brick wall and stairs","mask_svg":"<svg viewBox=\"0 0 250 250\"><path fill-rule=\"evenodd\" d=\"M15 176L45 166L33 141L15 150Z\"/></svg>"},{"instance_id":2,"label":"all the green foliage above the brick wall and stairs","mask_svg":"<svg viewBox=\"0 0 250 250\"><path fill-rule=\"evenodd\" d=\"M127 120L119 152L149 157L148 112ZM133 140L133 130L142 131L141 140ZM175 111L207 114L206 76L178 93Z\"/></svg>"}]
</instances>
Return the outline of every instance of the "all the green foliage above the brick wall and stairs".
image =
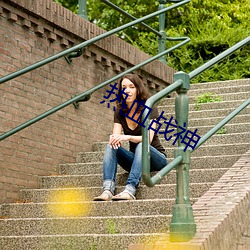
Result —
<instances>
[{"instance_id":1,"label":"all the green foliage above the brick wall and stairs","mask_svg":"<svg viewBox=\"0 0 250 250\"><path fill-rule=\"evenodd\" d=\"M54 1L77 12L78 0ZM156 11L159 5L158 1L149 0L111 2L137 18ZM166 6L172 4L168 3ZM103 29L111 30L131 21L101 0L88 0L87 6L89 20ZM189 73L243 40L250 35L249 13L249 0L192 0L167 12L167 36L191 38L191 42L167 56L169 66ZM158 17L147 20L146 23L159 29ZM117 35L150 55L157 54L157 37L141 25L128 28ZM170 48L175 44L176 42L167 41L166 47ZM200 74L192 82L250 78L249 52L250 44Z\"/></svg>"}]
</instances>

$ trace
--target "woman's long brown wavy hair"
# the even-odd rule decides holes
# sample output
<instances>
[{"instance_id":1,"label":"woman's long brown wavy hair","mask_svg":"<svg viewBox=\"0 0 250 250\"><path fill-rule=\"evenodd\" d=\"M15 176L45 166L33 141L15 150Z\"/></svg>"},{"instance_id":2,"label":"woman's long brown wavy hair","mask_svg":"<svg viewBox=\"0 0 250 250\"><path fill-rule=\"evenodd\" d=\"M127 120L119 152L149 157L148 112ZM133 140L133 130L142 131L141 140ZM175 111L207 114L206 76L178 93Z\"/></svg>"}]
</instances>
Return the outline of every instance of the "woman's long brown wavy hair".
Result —
<instances>
[{"instance_id":1,"label":"woman's long brown wavy hair","mask_svg":"<svg viewBox=\"0 0 250 250\"><path fill-rule=\"evenodd\" d=\"M124 79L130 80L130 81L135 85L135 88L136 88L136 90L137 90L137 91L136 91L136 100L137 100L138 102L143 102L143 101L146 102L146 100L147 100L148 97L149 97L149 94L148 94L147 88L144 86L144 84L143 84L141 78L140 78L138 75L136 75L136 74L127 74L127 75L124 75L124 76L120 79L120 81L119 81L119 83L118 83L117 95L120 95L120 100L117 101L117 107L118 107L118 109L122 110L122 113L126 114L126 113L128 112L129 109L128 109L127 107L124 108L124 107L122 106L123 101L124 101L124 98L123 98L123 96L121 95L121 91L122 91L122 81L123 81ZM142 109L143 109L143 107L140 107L140 108L138 109L137 112L141 112Z\"/></svg>"}]
</instances>

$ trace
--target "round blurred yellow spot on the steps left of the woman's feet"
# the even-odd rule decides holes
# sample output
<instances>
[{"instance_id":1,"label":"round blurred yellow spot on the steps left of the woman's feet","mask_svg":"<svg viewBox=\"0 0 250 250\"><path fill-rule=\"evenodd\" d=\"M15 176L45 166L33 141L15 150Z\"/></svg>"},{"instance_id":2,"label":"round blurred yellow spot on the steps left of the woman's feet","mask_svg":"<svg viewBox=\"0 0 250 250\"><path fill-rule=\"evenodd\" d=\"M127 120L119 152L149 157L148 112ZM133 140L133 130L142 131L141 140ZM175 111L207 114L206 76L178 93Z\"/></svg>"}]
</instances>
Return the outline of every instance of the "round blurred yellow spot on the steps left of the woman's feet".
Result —
<instances>
[{"instance_id":1,"label":"round blurred yellow spot on the steps left of the woman's feet","mask_svg":"<svg viewBox=\"0 0 250 250\"><path fill-rule=\"evenodd\" d=\"M56 217L86 216L89 210L89 202L84 190L53 190L48 199L48 211Z\"/></svg>"}]
</instances>

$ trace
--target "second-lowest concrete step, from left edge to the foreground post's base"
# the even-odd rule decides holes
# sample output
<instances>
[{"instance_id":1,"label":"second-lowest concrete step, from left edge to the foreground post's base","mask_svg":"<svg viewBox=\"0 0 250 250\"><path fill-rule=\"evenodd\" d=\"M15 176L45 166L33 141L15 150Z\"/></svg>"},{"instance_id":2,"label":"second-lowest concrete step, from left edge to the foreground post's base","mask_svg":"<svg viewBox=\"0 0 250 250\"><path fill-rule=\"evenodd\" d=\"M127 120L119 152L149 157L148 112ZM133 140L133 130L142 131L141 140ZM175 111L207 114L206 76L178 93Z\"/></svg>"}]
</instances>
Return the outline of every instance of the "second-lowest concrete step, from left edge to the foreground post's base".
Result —
<instances>
[{"instance_id":1,"label":"second-lowest concrete step, from left edge to the foreground post's base","mask_svg":"<svg viewBox=\"0 0 250 250\"><path fill-rule=\"evenodd\" d=\"M0 236L166 233L170 215L40 218L0 220ZM154 225L152 227L152 225Z\"/></svg>"}]
</instances>

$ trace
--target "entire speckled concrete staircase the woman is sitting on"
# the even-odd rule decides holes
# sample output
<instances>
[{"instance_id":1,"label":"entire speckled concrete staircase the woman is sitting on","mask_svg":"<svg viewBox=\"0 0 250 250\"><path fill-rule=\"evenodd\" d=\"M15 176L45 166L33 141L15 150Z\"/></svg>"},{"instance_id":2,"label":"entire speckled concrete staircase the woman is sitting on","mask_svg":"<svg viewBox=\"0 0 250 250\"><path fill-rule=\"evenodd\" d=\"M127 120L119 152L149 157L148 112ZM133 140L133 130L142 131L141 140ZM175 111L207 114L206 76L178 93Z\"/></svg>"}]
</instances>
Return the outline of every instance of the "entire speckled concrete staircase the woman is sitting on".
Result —
<instances>
[{"instance_id":1,"label":"entire speckled concrete staircase the woman is sitting on","mask_svg":"<svg viewBox=\"0 0 250 250\"><path fill-rule=\"evenodd\" d=\"M195 96L211 92L220 102L201 104ZM189 129L202 136L213 125L250 96L250 80L192 85ZM158 105L164 116L175 117L174 98ZM190 194L192 203L202 196L249 150L250 107L192 154ZM169 160L173 141L162 143ZM124 250L129 244L153 242L166 235L175 202L175 173L159 185L141 183L137 200L93 202L102 191L102 159L105 142L93 145L92 152L78 153L76 163L59 166L57 176L41 177L40 189L21 190L20 202L0 208L0 249L83 249ZM117 192L124 187L127 173L119 169Z\"/></svg>"}]
</instances>

